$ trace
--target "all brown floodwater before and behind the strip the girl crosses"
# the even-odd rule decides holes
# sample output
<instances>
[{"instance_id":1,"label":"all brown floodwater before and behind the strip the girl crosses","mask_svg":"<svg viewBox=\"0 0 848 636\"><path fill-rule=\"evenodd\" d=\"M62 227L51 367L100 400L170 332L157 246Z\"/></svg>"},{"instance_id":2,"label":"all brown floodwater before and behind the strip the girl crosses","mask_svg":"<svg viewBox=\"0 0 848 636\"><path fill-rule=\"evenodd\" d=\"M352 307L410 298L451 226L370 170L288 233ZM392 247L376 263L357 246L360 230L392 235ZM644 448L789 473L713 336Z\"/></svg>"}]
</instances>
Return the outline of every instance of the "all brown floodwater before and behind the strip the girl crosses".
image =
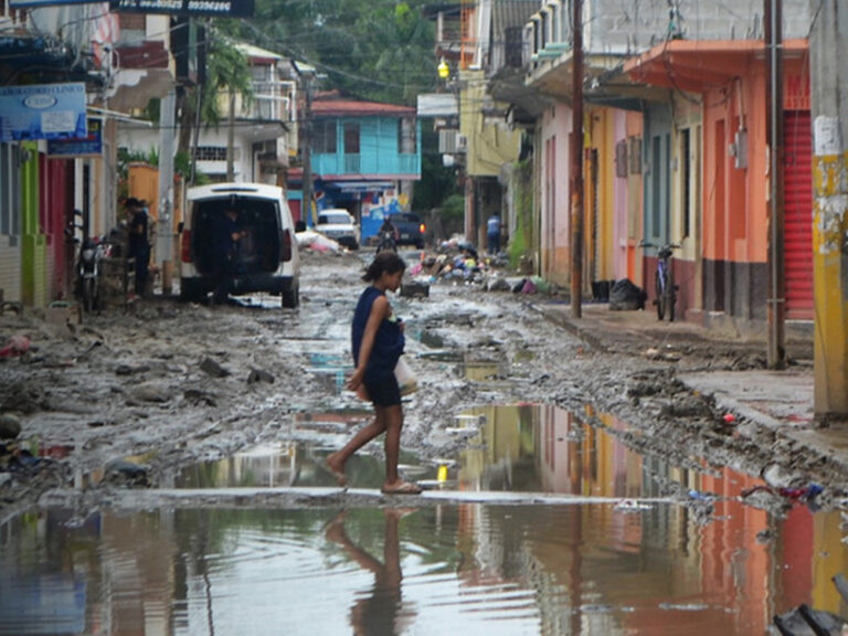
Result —
<instances>
[{"instance_id":1,"label":"all brown floodwater before and behind the strip the girl crosses","mask_svg":"<svg viewBox=\"0 0 848 636\"><path fill-rule=\"evenodd\" d=\"M265 444L169 486L324 485L320 459L352 424L338 413L303 423L327 424L329 442ZM640 456L548 406L475 409L446 427L471 427L469 448L404 466L459 491L451 502L11 519L0 526L0 634L732 636L771 633L774 614L802 603L846 610L830 581L848 558L839 512L796 502L772 516L740 500L754 478ZM380 462L356 459L351 486L379 484ZM577 497L462 501L477 490ZM696 506L647 501L670 490Z\"/></svg>"}]
</instances>

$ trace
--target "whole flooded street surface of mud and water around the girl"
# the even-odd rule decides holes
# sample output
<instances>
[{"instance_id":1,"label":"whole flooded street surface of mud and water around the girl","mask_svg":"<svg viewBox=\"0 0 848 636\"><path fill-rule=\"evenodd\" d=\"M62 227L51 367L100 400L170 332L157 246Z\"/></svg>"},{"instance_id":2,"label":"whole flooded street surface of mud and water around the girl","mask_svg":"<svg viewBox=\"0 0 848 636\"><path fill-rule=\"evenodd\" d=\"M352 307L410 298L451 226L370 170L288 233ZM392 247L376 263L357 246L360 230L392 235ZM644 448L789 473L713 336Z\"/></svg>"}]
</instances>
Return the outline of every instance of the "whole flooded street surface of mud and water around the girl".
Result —
<instances>
[{"instance_id":1,"label":"whole flooded street surface of mud and water around the girl","mask_svg":"<svg viewBox=\"0 0 848 636\"><path fill-rule=\"evenodd\" d=\"M425 491L380 495L381 442L338 488L324 459L371 416L343 389L367 257L308 259L299 311L153 304L1 368L42 473L6 473L0 634L724 636L844 610L838 509L776 495L664 363L509 294L392 299Z\"/></svg>"}]
</instances>

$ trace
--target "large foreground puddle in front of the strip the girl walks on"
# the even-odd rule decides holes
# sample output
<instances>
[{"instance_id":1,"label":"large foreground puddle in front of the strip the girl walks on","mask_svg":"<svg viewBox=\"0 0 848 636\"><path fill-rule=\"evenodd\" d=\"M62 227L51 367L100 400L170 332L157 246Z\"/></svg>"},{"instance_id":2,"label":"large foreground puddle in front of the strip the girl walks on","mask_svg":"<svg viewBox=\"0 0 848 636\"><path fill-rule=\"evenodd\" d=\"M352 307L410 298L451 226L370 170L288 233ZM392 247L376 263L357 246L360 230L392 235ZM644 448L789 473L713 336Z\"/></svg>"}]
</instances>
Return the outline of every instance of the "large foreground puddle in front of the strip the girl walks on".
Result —
<instances>
[{"instance_id":1,"label":"large foreground puddle in front of the strip the girl walks on","mask_svg":"<svg viewBox=\"0 0 848 636\"><path fill-rule=\"evenodd\" d=\"M0 526L0 634L741 636L840 610L838 515L724 512L47 509Z\"/></svg>"}]
</instances>

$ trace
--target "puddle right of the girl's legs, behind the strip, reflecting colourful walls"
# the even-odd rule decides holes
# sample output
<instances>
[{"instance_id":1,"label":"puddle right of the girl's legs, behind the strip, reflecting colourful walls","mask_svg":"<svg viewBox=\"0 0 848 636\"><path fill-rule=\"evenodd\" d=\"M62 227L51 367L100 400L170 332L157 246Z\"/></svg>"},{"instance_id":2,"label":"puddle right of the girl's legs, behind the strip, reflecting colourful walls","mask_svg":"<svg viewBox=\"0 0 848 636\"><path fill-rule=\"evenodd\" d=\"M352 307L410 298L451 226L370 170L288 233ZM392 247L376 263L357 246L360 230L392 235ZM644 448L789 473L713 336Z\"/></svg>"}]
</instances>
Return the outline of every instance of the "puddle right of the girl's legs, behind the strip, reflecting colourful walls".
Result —
<instances>
[{"instance_id":1,"label":"puddle right of the girl's legs, behind the strip, reflecting colourful walls","mask_svg":"<svg viewBox=\"0 0 848 636\"><path fill-rule=\"evenodd\" d=\"M612 433L626 423L596 414L595 428L552 405L469 409L438 434L467 446L448 467L449 487L613 498L664 497L671 489L738 497L762 480L728 468L683 469L630 451ZM430 474L427 476L430 478Z\"/></svg>"}]
</instances>

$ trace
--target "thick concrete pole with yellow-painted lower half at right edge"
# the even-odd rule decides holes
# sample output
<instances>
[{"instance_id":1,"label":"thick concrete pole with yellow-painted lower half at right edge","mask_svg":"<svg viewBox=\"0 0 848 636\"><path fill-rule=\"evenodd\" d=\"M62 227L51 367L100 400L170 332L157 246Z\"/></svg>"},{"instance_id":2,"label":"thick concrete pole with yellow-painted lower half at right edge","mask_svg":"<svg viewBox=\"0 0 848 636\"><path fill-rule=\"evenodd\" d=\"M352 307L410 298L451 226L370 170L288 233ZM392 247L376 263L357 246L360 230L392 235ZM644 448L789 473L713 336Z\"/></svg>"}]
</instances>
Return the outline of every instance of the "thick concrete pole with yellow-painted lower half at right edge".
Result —
<instances>
[{"instance_id":1,"label":"thick concrete pole with yellow-painted lower half at right edge","mask_svg":"<svg viewBox=\"0 0 848 636\"><path fill-rule=\"evenodd\" d=\"M815 413L848 415L848 12L810 0Z\"/></svg>"}]
</instances>

